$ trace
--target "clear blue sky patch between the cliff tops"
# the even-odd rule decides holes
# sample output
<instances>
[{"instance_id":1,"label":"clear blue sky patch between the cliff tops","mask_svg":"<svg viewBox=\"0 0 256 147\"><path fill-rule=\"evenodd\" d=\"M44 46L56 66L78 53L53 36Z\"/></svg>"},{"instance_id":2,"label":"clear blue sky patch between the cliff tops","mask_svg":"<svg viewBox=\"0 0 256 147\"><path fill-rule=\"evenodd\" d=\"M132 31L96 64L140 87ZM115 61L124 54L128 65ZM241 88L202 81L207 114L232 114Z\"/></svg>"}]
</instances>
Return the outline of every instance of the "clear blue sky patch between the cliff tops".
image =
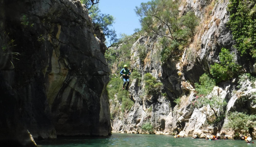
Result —
<instances>
[{"instance_id":1,"label":"clear blue sky patch between the cliff tops","mask_svg":"<svg viewBox=\"0 0 256 147\"><path fill-rule=\"evenodd\" d=\"M135 6L149 0L100 0L99 9L103 14L113 15L117 34L132 35L135 28L141 28L139 17L135 14Z\"/></svg>"}]
</instances>

